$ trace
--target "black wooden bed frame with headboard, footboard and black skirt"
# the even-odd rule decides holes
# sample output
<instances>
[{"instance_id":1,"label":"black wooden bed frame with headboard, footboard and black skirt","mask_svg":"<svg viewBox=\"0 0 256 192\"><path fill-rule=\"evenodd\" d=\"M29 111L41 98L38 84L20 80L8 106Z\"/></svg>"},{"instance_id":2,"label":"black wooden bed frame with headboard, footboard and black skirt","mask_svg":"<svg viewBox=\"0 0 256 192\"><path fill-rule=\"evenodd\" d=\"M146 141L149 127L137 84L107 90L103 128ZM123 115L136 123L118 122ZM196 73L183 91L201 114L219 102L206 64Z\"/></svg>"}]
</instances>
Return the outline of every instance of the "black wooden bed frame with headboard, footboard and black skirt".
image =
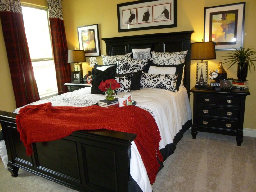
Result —
<instances>
[{"instance_id":1,"label":"black wooden bed frame with headboard, footboard and black skirt","mask_svg":"<svg viewBox=\"0 0 256 192\"><path fill-rule=\"evenodd\" d=\"M190 91L190 38L193 31L103 38L107 55L131 52L132 45L151 44L156 52L188 50L184 86ZM0 111L8 153L8 167L13 177L19 168L78 191L132 191L129 177L130 145L135 134L110 131L75 131L60 140L33 143L32 156L20 140L15 113ZM183 133L192 125L186 122L172 144L161 150L166 159L175 150ZM105 166L107 165L107 166ZM100 168L99 168L100 167ZM129 186L128 186L129 185Z\"/></svg>"}]
</instances>

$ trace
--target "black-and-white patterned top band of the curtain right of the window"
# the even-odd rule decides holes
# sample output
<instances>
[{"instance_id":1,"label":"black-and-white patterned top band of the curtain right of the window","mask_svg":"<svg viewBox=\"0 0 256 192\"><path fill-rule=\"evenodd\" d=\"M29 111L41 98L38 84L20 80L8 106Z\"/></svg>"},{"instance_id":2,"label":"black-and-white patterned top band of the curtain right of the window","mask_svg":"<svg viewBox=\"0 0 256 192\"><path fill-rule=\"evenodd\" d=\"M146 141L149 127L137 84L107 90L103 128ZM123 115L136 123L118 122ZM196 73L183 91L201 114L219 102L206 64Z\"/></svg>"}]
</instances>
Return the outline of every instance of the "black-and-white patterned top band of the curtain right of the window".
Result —
<instances>
[{"instance_id":1,"label":"black-and-white patterned top band of the curtain right of the window","mask_svg":"<svg viewBox=\"0 0 256 192\"><path fill-rule=\"evenodd\" d=\"M61 0L48 0L49 18L63 20Z\"/></svg>"}]
</instances>

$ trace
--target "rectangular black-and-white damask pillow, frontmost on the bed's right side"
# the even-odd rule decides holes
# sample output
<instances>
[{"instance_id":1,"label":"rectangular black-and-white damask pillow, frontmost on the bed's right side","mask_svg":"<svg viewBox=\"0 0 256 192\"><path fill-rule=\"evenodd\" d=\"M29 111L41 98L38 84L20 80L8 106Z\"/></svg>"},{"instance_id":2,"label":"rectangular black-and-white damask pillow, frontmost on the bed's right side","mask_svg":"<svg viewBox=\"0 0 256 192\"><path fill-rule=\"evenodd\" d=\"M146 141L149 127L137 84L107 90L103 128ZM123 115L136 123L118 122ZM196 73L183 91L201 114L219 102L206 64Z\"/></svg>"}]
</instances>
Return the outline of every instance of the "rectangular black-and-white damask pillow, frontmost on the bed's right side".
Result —
<instances>
[{"instance_id":1,"label":"rectangular black-and-white damask pillow, frontmost on the bed's right side","mask_svg":"<svg viewBox=\"0 0 256 192\"><path fill-rule=\"evenodd\" d=\"M166 89L177 92L176 81L178 74L148 74L143 72L141 76L141 88Z\"/></svg>"}]
</instances>

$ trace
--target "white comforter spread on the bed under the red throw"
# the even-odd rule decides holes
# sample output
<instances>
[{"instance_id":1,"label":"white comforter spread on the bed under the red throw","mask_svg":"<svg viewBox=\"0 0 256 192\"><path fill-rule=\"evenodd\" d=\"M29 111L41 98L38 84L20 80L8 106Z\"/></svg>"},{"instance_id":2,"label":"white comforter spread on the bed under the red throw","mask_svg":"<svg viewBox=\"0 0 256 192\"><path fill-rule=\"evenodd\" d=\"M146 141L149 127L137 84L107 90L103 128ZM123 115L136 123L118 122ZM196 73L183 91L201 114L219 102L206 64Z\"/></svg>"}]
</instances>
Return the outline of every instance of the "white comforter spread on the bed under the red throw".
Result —
<instances>
[{"instance_id":1,"label":"white comforter spread on the bed under the red throw","mask_svg":"<svg viewBox=\"0 0 256 192\"><path fill-rule=\"evenodd\" d=\"M38 105L51 102L52 106L76 106L84 107L94 105L98 100L105 99L104 95L91 94L91 87L54 96L49 99L37 101L29 105ZM132 100L136 106L147 110L155 118L161 133L160 149L173 143L174 136L180 131L182 125L192 118L190 103L185 88L180 87L179 92L171 92L164 89L148 89L131 91ZM118 93L122 97L127 93ZM14 113L18 113L20 108ZM146 168L142 162L137 147L132 141L130 174L144 192L152 192Z\"/></svg>"}]
</instances>

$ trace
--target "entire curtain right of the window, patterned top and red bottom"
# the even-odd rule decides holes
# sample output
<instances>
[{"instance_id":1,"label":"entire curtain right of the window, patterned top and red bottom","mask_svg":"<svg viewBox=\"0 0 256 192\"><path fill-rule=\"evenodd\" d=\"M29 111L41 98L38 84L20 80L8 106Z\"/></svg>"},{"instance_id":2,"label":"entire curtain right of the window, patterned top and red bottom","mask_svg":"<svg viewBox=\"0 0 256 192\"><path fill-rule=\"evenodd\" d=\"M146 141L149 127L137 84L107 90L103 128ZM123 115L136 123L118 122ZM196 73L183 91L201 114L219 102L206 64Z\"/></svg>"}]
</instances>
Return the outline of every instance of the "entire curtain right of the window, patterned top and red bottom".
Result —
<instances>
[{"instance_id":1,"label":"entire curtain right of the window, patterned top and red bottom","mask_svg":"<svg viewBox=\"0 0 256 192\"><path fill-rule=\"evenodd\" d=\"M68 45L61 0L48 0L48 8L57 86L59 94L62 94L68 92L64 83L71 82L71 69L68 64Z\"/></svg>"}]
</instances>

